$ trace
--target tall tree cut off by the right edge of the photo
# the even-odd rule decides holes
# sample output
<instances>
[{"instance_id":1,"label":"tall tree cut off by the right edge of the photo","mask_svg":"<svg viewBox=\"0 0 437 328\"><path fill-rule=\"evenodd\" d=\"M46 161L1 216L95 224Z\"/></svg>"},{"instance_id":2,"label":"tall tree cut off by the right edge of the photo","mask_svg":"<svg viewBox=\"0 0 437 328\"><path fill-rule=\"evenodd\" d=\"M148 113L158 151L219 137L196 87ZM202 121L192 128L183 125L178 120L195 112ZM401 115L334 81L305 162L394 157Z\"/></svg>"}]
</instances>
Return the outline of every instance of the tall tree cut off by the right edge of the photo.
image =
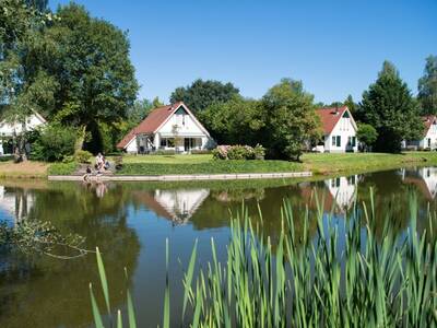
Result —
<instances>
[{"instance_id":1,"label":"tall tree cut off by the right edge of the photo","mask_svg":"<svg viewBox=\"0 0 437 328\"><path fill-rule=\"evenodd\" d=\"M417 98L423 114L437 114L437 56L426 58L424 75L418 80Z\"/></svg>"}]
</instances>

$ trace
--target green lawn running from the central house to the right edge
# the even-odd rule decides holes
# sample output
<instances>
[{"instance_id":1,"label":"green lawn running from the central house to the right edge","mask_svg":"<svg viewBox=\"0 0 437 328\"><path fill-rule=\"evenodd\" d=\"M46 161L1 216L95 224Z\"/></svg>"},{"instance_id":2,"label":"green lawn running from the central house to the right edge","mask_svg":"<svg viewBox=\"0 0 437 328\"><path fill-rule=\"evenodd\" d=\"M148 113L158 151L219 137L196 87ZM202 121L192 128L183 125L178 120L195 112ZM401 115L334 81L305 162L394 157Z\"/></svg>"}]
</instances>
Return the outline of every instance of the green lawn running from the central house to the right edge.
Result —
<instances>
[{"instance_id":1,"label":"green lawn running from the central house to the right edge","mask_svg":"<svg viewBox=\"0 0 437 328\"><path fill-rule=\"evenodd\" d=\"M220 174L311 171L338 174L389 169L411 165L437 165L437 152L403 154L304 154L303 163L287 161L214 161L212 155L126 155L121 175Z\"/></svg>"}]
</instances>

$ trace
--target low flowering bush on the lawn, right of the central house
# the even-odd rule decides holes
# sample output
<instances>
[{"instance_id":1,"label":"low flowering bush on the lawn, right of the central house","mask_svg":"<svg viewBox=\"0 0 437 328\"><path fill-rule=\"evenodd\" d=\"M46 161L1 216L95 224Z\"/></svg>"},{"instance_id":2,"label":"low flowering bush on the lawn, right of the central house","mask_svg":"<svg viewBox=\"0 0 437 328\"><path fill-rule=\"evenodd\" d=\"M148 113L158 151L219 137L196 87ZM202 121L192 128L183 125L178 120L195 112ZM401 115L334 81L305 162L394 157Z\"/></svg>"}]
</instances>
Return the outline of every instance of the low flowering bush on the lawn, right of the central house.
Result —
<instances>
[{"instance_id":1,"label":"low flowering bush on the lawn, right of the central house","mask_svg":"<svg viewBox=\"0 0 437 328\"><path fill-rule=\"evenodd\" d=\"M265 149L261 144L250 145L218 145L212 151L214 160L263 160Z\"/></svg>"}]
</instances>

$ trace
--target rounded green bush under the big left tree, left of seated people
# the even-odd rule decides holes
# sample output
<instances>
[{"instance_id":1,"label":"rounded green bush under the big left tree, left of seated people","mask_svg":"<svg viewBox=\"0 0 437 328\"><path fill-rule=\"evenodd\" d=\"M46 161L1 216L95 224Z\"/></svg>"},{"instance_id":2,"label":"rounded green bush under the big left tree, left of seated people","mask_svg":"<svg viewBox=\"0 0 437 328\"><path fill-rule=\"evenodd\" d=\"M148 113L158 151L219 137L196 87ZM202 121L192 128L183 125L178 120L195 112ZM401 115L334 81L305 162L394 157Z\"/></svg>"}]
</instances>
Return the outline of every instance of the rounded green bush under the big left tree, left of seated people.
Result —
<instances>
[{"instance_id":1,"label":"rounded green bush under the big left tree, left of seated people","mask_svg":"<svg viewBox=\"0 0 437 328\"><path fill-rule=\"evenodd\" d=\"M46 162L60 162L74 154L78 131L58 124L48 125L39 131L32 145L31 159Z\"/></svg>"}]
</instances>

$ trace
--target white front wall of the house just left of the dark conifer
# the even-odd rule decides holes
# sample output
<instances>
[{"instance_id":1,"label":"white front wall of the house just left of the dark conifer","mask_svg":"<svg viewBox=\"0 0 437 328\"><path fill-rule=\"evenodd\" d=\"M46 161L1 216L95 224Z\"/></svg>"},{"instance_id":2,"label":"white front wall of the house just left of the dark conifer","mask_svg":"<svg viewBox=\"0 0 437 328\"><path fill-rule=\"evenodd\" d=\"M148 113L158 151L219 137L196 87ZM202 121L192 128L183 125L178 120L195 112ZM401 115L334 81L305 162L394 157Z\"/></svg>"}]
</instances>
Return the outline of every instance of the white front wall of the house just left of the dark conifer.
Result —
<instances>
[{"instance_id":1,"label":"white front wall of the house just left of the dark conifer","mask_svg":"<svg viewBox=\"0 0 437 328\"><path fill-rule=\"evenodd\" d=\"M340 136L341 144L340 147L332 145L332 137ZM331 153L344 153L352 151L347 149L349 137L356 137L356 130L350 117L342 117L336 122L334 129L330 134L324 136L324 151ZM353 151L358 151L358 141L356 140Z\"/></svg>"}]
</instances>

